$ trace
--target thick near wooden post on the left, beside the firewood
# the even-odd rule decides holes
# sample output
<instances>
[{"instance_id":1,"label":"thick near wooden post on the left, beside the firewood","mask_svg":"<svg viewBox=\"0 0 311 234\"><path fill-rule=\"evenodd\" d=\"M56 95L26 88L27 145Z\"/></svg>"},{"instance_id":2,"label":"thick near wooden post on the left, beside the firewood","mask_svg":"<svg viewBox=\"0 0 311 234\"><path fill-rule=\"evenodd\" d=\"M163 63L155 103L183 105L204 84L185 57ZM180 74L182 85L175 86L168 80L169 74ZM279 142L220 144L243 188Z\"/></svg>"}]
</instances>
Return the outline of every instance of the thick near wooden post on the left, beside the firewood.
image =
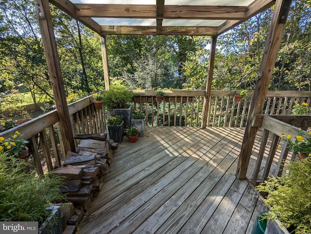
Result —
<instances>
[{"instance_id":1,"label":"thick near wooden post on the left, beside the firewood","mask_svg":"<svg viewBox=\"0 0 311 234\"><path fill-rule=\"evenodd\" d=\"M46 61L49 68L50 79L54 94L61 133L63 135L65 151L75 150L72 129L70 125L66 93L63 83L62 72L59 64L56 48L53 24L49 6L49 0L35 0L35 9L38 17L40 32ZM64 152L64 154L66 154Z\"/></svg>"}]
</instances>

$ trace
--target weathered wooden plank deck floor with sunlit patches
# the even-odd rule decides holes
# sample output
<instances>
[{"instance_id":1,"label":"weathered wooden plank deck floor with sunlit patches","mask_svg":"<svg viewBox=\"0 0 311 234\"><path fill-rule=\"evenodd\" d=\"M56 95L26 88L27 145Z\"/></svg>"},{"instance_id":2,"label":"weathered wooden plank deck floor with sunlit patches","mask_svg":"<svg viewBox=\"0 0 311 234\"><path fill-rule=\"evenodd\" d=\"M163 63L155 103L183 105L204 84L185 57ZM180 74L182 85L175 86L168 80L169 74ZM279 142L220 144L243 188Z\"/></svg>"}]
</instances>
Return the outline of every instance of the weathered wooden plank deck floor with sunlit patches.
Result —
<instances>
[{"instance_id":1,"label":"weathered wooden plank deck floor with sunlit patches","mask_svg":"<svg viewBox=\"0 0 311 234\"><path fill-rule=\"evenodd\" d=\"M79 233L250 234L264 205L235 176L243 133L152 127L137 143L124 139Z\"/></svg>"}]
</instances>

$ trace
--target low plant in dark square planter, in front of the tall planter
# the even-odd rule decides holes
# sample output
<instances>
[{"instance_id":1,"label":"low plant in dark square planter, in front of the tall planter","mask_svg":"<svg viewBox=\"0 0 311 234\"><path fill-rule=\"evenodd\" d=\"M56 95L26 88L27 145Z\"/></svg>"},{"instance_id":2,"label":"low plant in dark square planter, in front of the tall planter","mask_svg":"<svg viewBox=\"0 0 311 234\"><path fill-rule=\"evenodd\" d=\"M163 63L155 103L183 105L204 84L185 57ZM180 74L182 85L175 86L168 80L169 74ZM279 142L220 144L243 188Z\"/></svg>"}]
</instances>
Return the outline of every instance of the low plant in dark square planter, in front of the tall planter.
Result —
<instances>
[{"instance_id":1,"label":"low plant in dark square planter, in front of the tall planter","mask_svg":"<svg viewBox=\"0 0 311 234\"><path fill-rule=\"evenodd\" d=\"M107 119L109 137L114 142L121 143L123 140L124 121L123 116L111 116Z\"/></svg>"}]
</instances>

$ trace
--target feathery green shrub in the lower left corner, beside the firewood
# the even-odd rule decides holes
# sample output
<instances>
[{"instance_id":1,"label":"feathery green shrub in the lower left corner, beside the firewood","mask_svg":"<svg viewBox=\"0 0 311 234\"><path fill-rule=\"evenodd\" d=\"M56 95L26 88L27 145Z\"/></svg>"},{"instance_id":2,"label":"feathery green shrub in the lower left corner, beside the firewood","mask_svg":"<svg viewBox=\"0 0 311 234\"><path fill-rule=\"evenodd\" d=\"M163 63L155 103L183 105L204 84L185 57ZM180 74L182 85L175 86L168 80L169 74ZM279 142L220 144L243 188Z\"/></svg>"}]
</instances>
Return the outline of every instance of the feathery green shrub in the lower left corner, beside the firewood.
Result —
<instances>
[{"instance_id":1,"label":"feathery green shrub in the lower left corner, beside the firewood","mask_svg":"<svg viewBox=\"0 0 311 234\"><path fill-rule=\"evenodd\" d=\"M9 158L0 152L0 220L39 221L50 214L46 208L64 201L59 187L63 179L49 174L26 173L24 160Z\"/></svg>"}]
</instances>

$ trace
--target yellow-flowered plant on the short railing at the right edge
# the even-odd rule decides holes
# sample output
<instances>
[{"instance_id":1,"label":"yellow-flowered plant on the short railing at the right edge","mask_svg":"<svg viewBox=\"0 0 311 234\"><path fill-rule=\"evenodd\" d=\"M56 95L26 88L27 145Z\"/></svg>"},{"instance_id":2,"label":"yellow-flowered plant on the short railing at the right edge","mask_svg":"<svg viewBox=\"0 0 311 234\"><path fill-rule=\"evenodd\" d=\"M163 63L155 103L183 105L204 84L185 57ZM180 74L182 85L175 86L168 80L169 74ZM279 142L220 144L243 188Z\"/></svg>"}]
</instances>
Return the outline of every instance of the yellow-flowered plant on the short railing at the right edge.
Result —
<instances>
[{"instance_id":1,"label":"yellow-flowered plant on the short railing at the right edge","mask_svg":"<svg viewBox=\"0 0 311 234\"><path fill-rule=\"evenodd\" d=\"M299 134L293 139L291 135L281 135L284 141L287 142L287 147L295 154L303 153L306 156L311 156L311 131L308 135L302 129L299 129Z\"/></svg>"}]
</instances>

